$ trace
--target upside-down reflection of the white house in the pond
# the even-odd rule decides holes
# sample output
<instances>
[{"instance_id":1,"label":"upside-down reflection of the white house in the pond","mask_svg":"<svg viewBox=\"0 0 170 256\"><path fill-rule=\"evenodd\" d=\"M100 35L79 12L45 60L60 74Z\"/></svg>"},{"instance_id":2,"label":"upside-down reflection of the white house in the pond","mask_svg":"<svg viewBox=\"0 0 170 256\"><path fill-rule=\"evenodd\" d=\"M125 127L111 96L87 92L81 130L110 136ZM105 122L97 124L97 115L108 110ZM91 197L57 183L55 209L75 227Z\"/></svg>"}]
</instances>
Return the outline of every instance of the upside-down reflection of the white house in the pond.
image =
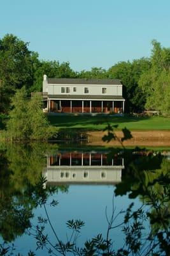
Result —
<instances>
[{"instance_id":1,"label":"upside-down reflection of the white house in the pond","mask_svg":"<svg viewBox=\"0 0 170 256\"><path fill-rule=\"evenodd\" d=\"M47 184L115 184L121 182L124 159L101 152L60 152L47 157Z\"/></svg>"}]
</instances>

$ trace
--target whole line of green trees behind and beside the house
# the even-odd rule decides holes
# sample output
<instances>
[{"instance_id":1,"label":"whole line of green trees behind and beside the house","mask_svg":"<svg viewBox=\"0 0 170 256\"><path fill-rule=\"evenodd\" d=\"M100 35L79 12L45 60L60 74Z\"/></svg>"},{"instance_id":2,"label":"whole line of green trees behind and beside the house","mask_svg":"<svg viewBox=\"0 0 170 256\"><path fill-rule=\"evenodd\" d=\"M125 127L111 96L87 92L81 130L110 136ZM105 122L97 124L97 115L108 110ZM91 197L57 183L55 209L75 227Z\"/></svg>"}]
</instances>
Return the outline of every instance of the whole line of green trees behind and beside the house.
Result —
<instances>
[{"instance_id":1,"label":"whole line of green trees behind and beside the house","mask_svg":"<svg viewBox=\"0 0 170 256\"><path fill-rule=\"evenodd\" d=\"M8 113L11 97L25 86L27 93L42 91L43 74L48 77L121 79L126 111L144 109L170 114L170 49L152 41L150 58L122 61L108 68L93 67L75 72L68 62L39 60L28 43L14 35L0 39L0 112Z\"/></svg>"}]
</instances>

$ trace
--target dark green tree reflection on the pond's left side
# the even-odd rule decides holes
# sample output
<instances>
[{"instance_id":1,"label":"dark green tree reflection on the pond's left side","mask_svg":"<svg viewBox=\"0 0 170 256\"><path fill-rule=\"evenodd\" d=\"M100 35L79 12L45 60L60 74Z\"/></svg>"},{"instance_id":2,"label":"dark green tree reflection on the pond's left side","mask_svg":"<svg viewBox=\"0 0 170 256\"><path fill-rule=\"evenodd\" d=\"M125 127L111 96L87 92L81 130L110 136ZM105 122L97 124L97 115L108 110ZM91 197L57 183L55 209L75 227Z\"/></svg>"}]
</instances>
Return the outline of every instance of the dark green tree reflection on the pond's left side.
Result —
<instances>
[{"instance_id":1,"label":"dark green tree reflection on the pond's left side","mask_svg":"<svg viewBox=\"0 0 170 256\"><path fill-rule=\"evenodd\" d=\"M0 232L4 241L13 241L31 227L32 210L41 194L39 177L46 164L46 145L7 145L0 151ZM63 191L67 188L63 186ZM54 193L48 188L46 195Z\"/></svg>"}]
</instances>

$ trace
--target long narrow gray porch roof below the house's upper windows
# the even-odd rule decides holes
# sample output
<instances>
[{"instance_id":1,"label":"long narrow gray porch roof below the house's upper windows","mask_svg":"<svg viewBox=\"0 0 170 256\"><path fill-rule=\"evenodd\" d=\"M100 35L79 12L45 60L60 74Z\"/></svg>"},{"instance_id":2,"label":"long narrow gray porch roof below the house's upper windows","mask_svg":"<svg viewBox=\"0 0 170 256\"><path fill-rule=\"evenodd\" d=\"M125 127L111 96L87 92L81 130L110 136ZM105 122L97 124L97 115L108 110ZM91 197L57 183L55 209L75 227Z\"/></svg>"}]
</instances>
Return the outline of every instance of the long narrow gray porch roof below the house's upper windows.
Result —
<instances>
[{"instance_id":1,"label":"long narrow gray porch roof below the house's upper windows","mask_svg":"<svg viewBox=\"0 0 170 256\"><path fill-rule=\"evenodd\" d=\"M64 100L124 100L122 96L112 96L112 95L49 95L48 99L64 99Z\"/></svg>"}]
</instances>

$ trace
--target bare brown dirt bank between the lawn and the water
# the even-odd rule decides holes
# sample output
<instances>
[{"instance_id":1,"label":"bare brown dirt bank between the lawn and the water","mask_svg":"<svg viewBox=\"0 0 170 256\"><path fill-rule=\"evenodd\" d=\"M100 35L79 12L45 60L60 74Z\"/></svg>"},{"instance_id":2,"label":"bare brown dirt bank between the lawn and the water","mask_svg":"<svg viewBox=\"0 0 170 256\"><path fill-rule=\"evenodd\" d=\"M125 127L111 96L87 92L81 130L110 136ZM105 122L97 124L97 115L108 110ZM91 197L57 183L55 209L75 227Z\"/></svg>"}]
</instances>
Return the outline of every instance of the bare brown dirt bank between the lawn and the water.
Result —
<instances>
[{"instance_id":1,"label":"bare brown dirt bank between the lawn and the water","mask_svg":"<svg viewBox=\"0 0 170 256\"><path fill-rule=\"evenodd\" d=\"M123 137L122 131L115 132L118 138ZM107 132L94 131L88 132L89 145L96 146L118 146L120 143L112 140L109 143L102 141ZM124 141L125 146L148 146L148 147L170 147L170 131L132 131L133 138Z\"/></svg>"}]
</instances>

